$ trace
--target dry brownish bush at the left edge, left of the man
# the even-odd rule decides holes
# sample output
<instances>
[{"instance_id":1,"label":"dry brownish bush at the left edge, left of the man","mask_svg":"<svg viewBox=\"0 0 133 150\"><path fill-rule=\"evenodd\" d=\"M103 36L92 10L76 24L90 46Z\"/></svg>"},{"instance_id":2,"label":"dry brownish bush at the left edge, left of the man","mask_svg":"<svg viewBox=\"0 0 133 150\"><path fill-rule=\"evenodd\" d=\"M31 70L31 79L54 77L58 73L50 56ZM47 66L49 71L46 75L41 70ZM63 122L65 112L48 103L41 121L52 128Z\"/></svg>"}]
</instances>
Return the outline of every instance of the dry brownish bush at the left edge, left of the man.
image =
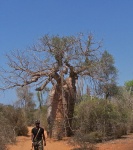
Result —
<instances>
[{"instance_id":1,"label":"dry brownish bush at the left edge, left of the man","mask_svg":"<svg viewBox=\"0 0 133 150\"><path fill-rule=\"evenodd\" d=\"M16 141L16 135L27 135L24 113L13 106L0 105L0 149Z\"/></svg>"}]
</instances>

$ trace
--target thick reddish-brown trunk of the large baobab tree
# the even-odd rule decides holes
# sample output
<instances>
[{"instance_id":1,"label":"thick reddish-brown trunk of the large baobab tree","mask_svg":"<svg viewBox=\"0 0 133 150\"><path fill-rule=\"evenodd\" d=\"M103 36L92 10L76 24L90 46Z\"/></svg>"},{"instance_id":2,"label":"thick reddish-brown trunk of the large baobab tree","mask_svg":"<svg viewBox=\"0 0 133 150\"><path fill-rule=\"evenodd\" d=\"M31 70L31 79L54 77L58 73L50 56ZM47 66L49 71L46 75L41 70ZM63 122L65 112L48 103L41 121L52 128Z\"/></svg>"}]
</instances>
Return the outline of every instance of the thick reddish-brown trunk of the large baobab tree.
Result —
<instances>
[{"instance_id":1,"label":"thick reddish-brown trunk of the large baobab tree","mask_svg":"<svg viewBox=\"0 0 133 150\"><path fill-rule=\"evenodd\" d=\"M71 126L76 100L76 87L72 81L71 78L67 78L63 86L56 85L51 92L49 125L52 137L58 139L72 135Z\"/></svg>"}]
</instances>

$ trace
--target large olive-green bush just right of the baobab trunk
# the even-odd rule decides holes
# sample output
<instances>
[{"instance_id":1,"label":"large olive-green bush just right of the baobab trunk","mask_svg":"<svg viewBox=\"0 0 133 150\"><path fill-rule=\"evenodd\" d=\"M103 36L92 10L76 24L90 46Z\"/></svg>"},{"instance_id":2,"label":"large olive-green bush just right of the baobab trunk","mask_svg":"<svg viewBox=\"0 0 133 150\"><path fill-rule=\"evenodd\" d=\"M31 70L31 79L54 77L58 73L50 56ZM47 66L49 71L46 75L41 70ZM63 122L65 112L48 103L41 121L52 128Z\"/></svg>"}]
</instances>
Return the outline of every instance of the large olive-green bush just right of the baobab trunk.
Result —
<instances>
[{"instance_id":1,"label":"large olive-green bush just right of the baobab trunk","mask_svg":"<svg viewBox=\"0 0 133 150\"><path fill-rule=\"evenodd\" d=\"M128 110L103 99L88 98L80 102L75 107L74 117L73 128L83 134L81 138L86 142L118 138L128 130Z\"/></svg>"}]
</instances>

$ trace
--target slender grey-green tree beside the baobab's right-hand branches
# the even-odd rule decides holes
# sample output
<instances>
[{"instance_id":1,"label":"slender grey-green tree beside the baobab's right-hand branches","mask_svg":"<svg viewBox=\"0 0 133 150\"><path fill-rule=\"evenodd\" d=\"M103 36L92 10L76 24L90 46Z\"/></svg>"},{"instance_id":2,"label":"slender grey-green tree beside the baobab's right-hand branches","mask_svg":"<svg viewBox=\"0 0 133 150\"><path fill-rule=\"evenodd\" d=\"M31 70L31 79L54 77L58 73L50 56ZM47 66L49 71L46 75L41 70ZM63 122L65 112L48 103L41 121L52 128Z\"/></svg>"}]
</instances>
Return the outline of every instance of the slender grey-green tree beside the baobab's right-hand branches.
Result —
<instances>
[{"instance_id":1,"label":"slender grey-green tree beside the baobab's right-hand branches","mask_svg":"<svg viewBox=\"0 0 133 150\"><path fill-rule=\"evenodd\" d=\"M105 82L101 82L98 92L103 93L105 99L114 96L118 92L116 85L117 70L114 66L114 59L111 54L104 51L101 57L102 72L101 77L105 79Z\"/></svg>"}]
</instances>

